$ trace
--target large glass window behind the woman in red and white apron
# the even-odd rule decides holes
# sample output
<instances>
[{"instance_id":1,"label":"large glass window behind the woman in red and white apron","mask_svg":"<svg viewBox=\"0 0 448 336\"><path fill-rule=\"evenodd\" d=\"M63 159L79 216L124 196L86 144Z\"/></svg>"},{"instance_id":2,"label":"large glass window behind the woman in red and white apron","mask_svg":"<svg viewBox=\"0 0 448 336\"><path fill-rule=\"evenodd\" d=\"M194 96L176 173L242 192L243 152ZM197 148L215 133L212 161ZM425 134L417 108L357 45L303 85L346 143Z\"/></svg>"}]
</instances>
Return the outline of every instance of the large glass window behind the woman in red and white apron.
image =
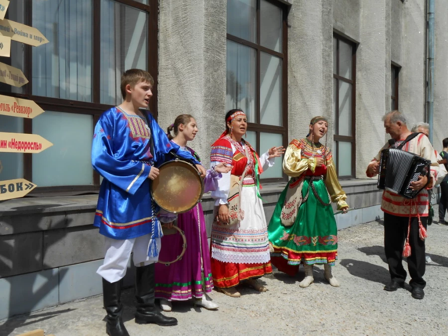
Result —
<instances>
[{"instance_id":1,"label":"large glass window behind the woman in red and white apron","mask_svg":"<svg viewBox=\"0 0 448 336\"><path fill-rule=\"evenodd\" d=\"M277 1L227 0L226 110L243 110L247 141L262 154L286 145L286 7ZM261 177L283 180L281 158Z\"/></svg>"}]
</instances>

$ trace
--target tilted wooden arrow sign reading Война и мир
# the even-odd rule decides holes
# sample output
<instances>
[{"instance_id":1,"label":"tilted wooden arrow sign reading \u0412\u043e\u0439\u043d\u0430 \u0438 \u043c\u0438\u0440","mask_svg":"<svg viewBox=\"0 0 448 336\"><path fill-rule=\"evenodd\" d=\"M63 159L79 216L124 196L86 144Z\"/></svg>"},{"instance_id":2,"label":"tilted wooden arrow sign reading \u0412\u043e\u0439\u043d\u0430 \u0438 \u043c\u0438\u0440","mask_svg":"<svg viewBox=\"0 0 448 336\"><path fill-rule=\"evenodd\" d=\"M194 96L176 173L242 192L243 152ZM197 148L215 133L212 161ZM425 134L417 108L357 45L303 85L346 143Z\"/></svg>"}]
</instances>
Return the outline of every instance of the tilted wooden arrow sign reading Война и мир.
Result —
<instances>
[{"instance_id":1,"label":"tilted wooden arrow sign reading \u0412\u043e\u0439\u043d\u0430 \u0438 \u043c\u0438\u0440","mask_svg":"<svg viewBox=\"0 0 448 336\"><path fill-rule=\"evenodd\" d=\"M36 28L7 19L0 20L0 35L35 47L49 42Z\"/></svg>"}]
</instances>

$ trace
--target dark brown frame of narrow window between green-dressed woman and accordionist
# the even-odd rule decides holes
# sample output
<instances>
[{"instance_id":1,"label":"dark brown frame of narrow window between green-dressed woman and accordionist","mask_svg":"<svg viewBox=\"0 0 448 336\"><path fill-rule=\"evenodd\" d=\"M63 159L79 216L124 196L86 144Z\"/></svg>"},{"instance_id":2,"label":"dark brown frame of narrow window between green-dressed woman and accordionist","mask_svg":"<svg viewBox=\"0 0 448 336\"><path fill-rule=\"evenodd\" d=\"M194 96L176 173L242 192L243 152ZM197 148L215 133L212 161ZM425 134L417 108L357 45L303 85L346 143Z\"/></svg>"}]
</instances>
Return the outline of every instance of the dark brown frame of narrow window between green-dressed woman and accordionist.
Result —
<instances>
[{"instance_id":1,"label":"dark brown frame of narrow window between green-dressed woman and accordionist","mask_svg":"<svg viewBox=\"0 0 448 336\"><path fill-rule=\"evenodd\" d=\"M339 72L339 41L343 41L352 47L351 55L351 80L345 77L335 74L333 71L333 78L336 79L336 115L333 141L336 142L336 174L340 180L348 180L356 178L356 48L357 44L349 39L333 33L333 37L336 38L336 72ZM339 81L351 84L351 136L339 135ZM334 91L335 89L333 89ZM339 176L339 141L351 143L351 175Z\"/></svg>"}]
</instances>

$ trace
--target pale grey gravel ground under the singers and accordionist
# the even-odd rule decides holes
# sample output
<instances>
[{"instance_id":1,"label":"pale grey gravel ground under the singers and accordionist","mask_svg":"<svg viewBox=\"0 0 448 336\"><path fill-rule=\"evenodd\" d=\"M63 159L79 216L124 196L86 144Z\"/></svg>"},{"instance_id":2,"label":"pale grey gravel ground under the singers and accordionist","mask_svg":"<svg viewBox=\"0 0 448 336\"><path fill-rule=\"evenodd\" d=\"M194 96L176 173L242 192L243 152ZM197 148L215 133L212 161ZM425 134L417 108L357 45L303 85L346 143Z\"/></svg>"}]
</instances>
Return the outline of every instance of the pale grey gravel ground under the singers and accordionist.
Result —
<instances>
[{"instance_id":1,"label":"pale grey gravel ground under the singers and accordionist","mask_svg":"<svg viewBox=\"0 0 448 336\"><path fill-rule=\"evenodd\" d=\"M437 213L437 209L436 209ZM302 289L296 277L278 271L265 276L268 292L240 287L241 298L216 291L211 298L218 311L175 302L169 316L178 326L137 325L133 321L133 292L122 295L124 322L130 335L448 335L448 226L428 230L428 285L425 298L411 297L410 286L396 292L383 290L389 281L383 249L382 221L339 231L339 260L333 288L315 267L315 283ZM405 265L405 268L407 266ZM409 281L409 278L407 279ZM55 336L96 336L105 333L102 296L46 309L0 322L0 336L44 329Z\"/></svg>"}]
</instances>

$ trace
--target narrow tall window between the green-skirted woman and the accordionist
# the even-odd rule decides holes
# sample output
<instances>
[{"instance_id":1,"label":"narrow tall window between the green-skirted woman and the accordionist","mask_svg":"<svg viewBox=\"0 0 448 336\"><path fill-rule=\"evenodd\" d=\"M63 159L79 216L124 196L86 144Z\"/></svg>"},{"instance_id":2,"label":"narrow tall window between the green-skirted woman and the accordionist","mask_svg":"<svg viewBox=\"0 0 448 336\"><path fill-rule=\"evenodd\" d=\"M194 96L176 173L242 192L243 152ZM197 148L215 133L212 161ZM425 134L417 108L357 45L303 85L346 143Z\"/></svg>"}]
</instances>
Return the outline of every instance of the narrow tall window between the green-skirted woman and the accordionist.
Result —
<instances>
[{"instance_id":1,"label":"narrow tall window between the green-skirted woman and the accordionist","mask_svg":"<svg viewBox=\"0 0 448 336\"><path fill-rule=\"evenodd\" d=\"M355 177L355 44L333 37L333 157L339 178Z\"/></svg>"}]
</instances>

